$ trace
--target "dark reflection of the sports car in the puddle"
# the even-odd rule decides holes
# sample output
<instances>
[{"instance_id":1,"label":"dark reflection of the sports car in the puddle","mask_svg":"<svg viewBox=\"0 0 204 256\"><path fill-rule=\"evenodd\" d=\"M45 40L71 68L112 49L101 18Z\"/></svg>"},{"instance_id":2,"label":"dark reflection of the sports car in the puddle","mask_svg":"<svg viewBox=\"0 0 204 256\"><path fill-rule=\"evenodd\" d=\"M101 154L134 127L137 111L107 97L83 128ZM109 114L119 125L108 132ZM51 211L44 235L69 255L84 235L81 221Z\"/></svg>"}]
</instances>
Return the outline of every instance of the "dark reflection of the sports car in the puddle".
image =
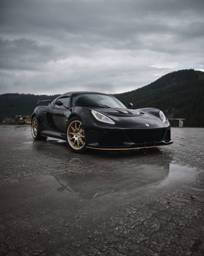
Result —
<instances>
[{"instance_id":1,"label":"dark reflection of the sports car in the puddle","mask_svg":"<svg viewBox=\"0 0 204 256\"><path fill-rule=\"evenodd\" d=\"M70 164L80 165L80 159L72 159ZM60 184L58 192L71 192L77 197L94 199L113 192L130 190L157 185L167 179L169 164L149 165L134 164L133 166L115 166L113 169L101 169L101 172L73 175L70 173L55 175Z\"/></svg>"}]
</instances>

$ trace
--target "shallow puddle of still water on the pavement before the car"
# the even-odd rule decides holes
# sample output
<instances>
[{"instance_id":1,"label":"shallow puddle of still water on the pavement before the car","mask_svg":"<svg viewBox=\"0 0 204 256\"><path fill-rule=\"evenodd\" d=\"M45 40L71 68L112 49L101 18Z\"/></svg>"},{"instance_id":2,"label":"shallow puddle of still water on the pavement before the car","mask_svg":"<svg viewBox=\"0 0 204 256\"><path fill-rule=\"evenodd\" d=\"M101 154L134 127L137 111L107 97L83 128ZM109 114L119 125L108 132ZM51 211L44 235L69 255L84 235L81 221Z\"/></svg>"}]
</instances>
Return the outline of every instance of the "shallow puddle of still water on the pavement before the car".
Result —
<instances>
[{"instance_id":1,"label":"shallow puddle of still water on the pavement before the car","mask_svg":"<svg viewBox=\"0 0 204 256\"><path fill-rule=\"evenodd\" d=\"M159 192L160 187L177 188L197 174L196 169L177 164L119 164L117 161L107 164L107 168L104 166L101 163L101 168L94 167L73 158L64 174L45 174L15 184L2 184L1 205L5 210L12 208L20 212L28 212L29 208L31 216L52 209L51 215L52 211L62 212L74 220L76 215L83 216L76 221L89 220L90 216L108 218L114 210Z\"/></svg>"}]
</instances>

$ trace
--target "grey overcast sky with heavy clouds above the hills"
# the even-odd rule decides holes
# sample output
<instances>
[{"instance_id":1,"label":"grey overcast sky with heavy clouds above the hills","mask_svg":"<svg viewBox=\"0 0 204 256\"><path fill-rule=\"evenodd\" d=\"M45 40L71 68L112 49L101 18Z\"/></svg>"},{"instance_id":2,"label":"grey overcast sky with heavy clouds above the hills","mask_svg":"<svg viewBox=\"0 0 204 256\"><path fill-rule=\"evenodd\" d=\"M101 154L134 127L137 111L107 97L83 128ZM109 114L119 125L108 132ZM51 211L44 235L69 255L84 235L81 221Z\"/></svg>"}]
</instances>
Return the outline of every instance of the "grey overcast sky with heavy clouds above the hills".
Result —
<instances>
[{"instance_id":1,"label":"grey overcast sky with heavy clouds above the hills","mask_svg":"<svg viewBox=\"0 0 204 256\"><path fill-rule=\"evenodd\" d=\"M204 70L204 0L0 0L0 94L126 92Z\"/></svg>"}]
</instances>

